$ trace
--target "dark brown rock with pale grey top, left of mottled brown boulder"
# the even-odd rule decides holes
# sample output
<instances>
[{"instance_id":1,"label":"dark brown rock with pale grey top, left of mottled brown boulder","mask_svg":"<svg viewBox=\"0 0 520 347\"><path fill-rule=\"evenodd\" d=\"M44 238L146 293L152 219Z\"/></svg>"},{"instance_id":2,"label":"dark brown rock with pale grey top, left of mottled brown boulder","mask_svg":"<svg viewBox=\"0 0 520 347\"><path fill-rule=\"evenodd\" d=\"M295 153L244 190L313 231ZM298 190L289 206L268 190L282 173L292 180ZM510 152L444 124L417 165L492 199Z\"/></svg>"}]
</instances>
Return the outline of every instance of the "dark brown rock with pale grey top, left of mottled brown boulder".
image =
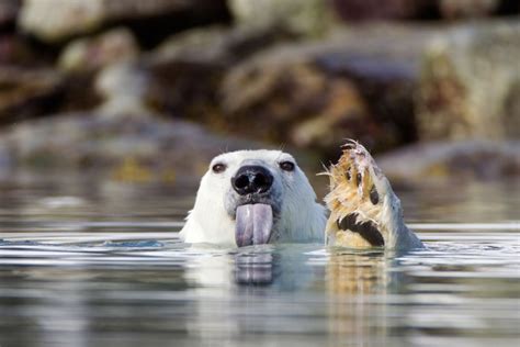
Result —
<instances>
[{"instance_id":1,"label":"dark brown rock with pale grey top, left of mottled brown boulder","mask_svg":"<svg viewBox=\"0 0 520 347\"><path fill-rule=\"evenodd\" d=\"M217 93L225 71L255 53L293 37L283 30L225 26L176 34L144 58L150 82L147 103L160 113L211 126L225 122Z\"/></svg>"}]
</instances>

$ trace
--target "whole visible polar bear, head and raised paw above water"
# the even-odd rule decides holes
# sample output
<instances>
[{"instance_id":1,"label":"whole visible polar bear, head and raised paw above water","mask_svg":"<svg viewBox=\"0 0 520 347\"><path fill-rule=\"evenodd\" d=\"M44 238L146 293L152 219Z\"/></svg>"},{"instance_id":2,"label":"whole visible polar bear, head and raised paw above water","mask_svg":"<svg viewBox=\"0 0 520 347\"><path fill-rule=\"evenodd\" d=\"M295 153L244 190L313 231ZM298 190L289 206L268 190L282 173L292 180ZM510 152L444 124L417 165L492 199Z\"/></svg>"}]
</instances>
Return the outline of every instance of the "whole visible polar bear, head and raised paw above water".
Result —
<instances>
[{"instance_id":1,"label":"whole visible polar bear, head and raised paw above water","mask_svg":"<svg viewBox=\"0 0 520 347\"><path fill-rule=\"evenodd\" d=\"M214 158L201 180L181 237L186 243L249 246L326 240L329 246L421 248L400 201L369 152L343 147L325 172L324 206L294 158L280 150L239 150Z\"/></svg>"}]
</instances>

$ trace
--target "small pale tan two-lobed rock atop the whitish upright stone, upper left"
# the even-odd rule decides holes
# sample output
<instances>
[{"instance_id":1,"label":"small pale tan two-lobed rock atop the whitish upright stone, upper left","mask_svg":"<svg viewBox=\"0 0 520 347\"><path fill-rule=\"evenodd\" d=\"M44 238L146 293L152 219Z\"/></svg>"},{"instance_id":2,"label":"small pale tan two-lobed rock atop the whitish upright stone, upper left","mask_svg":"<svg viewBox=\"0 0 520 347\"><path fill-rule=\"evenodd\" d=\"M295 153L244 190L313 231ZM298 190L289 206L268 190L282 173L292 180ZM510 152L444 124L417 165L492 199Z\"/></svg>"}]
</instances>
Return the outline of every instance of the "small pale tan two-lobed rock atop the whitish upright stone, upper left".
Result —
<instances>
[{"instance_id":1,"label":"small pale tan two-lobed rock atop the whitish upright stone, upper left","mask_svg":"<svg viewBox=\"0 0 520 347\"><path fill-rule=\"evenodd\" d=\"M58 66L66 71L89 71L133 60L138 53L139 47L132 32L117 27L92 38L72 41L64 48Z\"/></svg>"}]
</instances>

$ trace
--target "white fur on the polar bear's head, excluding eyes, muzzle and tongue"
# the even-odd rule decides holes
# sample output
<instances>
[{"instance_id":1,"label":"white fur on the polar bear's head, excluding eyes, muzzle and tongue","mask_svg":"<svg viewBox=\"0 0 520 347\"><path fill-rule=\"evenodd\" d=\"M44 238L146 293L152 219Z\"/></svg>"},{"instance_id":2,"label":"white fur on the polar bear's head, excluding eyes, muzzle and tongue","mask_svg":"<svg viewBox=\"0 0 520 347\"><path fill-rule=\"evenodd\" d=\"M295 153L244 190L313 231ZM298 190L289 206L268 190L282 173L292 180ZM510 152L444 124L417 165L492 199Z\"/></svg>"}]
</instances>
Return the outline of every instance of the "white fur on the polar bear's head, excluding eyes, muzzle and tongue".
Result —
<instances>
[{"instance_id":1,"label":"white fur on the polar bear's head, excluding eyes, muzzle and tongue","mask_svg":"<svg viewBox=\"0 0 520 347\"><path fill-rule=\"evenodd\" d=\"M236 246L235 221L225 209L225 199L231 187L231 177L245 160L259 160L282 186L282 208L275 228L276 242L321 242L324 238L326 212L316 202L316 193L305 174L296 165L295 170L283 171L279 164L294 158L280 150L238 150L215 157L210 169L202 177L195 205L190 211L180 235L186 243L211 243ZM215 163L227 166L221 174L212 171Z\"/></svg>"}]
</instances>

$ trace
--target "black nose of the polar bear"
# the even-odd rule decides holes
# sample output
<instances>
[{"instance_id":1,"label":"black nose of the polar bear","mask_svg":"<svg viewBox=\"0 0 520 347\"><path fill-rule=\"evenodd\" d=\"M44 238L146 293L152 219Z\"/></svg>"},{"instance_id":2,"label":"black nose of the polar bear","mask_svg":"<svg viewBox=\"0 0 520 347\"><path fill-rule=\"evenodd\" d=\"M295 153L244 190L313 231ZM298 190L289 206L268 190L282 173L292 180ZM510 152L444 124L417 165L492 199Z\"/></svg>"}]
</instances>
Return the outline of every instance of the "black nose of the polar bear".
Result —
<instances>
[{"instance_id":1,"label":"black nose of the polar bear","mask_svg":"<svg viewBox=\"0 0 520 347\"><path fill-rule=\"evenodd\" d=\"M233 189L240 195L264 193L273 184L273 176L261 166L242 166L231 178Z\"/></svg>"}]
</instances>

